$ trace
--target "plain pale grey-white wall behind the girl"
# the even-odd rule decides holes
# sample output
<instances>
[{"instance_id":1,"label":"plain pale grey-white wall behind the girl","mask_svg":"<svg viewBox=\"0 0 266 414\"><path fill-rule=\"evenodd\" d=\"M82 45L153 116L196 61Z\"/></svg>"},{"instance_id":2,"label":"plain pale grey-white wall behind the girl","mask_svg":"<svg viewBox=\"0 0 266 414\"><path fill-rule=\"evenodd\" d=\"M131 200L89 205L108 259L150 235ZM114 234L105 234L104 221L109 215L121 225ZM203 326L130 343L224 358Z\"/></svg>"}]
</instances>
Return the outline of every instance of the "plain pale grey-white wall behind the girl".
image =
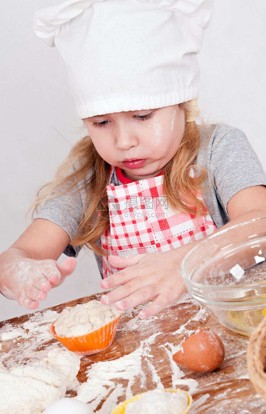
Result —
<instances>
[{"instance_id":1,"label":"plain pale grey-white wall behind the girl","mask_svg":"<svg viewBox=\"0 0 266 414\"><path fill-rule=\"evenodd\" d=\"M71 144L84 135L61 58L32 29L34 10L59 2L1 4L0 252L24 231L36 189L53 177ZM265 15L262 0L215 0L199 55L199 107L206 121L244 130L266 169ZM101 290L92 253L82 251L78 260L74 274L52 289L43 308ZM23 313L27 310L0 295L0 320Z\"/></svg>"}]
</instances>

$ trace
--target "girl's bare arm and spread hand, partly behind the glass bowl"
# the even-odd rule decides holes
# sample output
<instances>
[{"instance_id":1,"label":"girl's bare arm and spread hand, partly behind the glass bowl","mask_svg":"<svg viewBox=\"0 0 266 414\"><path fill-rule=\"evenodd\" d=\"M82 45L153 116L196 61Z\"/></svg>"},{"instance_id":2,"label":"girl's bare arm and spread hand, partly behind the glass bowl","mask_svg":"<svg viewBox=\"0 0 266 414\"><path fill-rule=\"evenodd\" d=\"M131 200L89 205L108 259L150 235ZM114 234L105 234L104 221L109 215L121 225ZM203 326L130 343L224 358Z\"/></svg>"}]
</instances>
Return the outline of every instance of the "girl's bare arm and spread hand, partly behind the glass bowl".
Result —
<instances>
[{"instance_id":1,"label":"girl's bare arm and spread hand, partly behind the glass bowl","mask_svg":"<svg viewBox=\"0 0 266 414\"><path fill-rule=\"evenodd\" d=\"M257 185L245 188L233 195L227 205L230 222L220 227L226 229L238 223L266 216L266 187ZM110 256L110 263L124 268L101 282L103 289L117 289L102 296L105 304L116 302L119 310L125 310L153 299L139 313L149 318L165 306L177 300L185 291L180 265L185 255L201 240L163 253L147 253L132 256Z\"/></svg>"}]
</instances>

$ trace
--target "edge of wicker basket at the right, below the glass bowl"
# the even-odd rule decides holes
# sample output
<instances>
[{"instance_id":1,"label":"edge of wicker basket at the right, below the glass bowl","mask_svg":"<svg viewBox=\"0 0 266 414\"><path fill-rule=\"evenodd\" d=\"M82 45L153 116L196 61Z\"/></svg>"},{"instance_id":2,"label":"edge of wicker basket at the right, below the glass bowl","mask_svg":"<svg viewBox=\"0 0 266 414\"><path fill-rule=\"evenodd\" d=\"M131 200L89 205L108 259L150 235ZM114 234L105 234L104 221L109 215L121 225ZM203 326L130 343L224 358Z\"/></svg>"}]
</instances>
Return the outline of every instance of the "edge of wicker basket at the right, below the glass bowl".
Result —
<instances>
[{"instance_id":1,"label":"edge of wicker basket at the right, below the glass bowl","mask_svg":"<svg viewBox=\"0 0 266 414\"><path fill-rule=\"evenodd\" d=\"M256 390L266 401L266 317L252 333L247 348L249 378Z\"/></svg>"}]
</instances>

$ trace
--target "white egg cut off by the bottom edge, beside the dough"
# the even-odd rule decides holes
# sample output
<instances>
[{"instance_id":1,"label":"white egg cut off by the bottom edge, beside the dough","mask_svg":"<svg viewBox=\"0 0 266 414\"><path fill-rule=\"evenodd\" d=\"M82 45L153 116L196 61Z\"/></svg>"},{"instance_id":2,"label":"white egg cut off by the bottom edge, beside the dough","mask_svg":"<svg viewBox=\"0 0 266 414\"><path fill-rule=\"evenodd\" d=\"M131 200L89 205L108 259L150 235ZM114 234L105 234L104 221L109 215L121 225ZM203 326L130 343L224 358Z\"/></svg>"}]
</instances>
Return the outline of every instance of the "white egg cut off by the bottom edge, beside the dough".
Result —
<instances>
[{"instance_id":1,"label":"white egg cut off by the bottom edge, beside the dough","mask_svg":"<svg viewBox=\"0 0 266 414\"><path fill-rule=\"evenodd\" d=\"M76 398L61 398L52 402L43 414L93 414L90 407Z\"/></svg>"}]
</instances>

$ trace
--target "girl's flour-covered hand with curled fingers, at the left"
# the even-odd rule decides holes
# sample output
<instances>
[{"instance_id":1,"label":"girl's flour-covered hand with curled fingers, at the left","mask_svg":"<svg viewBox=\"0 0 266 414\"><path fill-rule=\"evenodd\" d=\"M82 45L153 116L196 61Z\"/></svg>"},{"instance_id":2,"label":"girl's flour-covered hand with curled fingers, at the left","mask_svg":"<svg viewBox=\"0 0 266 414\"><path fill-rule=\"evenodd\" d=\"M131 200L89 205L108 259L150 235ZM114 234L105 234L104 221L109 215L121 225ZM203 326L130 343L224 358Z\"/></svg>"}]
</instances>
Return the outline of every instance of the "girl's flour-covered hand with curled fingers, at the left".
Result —
<instances>
[{"instance_id":1,"label":"girl's flour-covered hand with curled fingers, at the left","mask_svg":"<svg viewBox=\"0 0 266 414\"><path fill-rule=\"evenodd\" d=\"M35 260L20 258L14 262L10 288L14 294L9 295L27 309L36 309L38 301L47 297L47 292L64 282L65 277L74 272L76 260L68 258L63 263L55 260ZM10 292L11 293L11 292Z\"/></svg>"}]
</instances>

